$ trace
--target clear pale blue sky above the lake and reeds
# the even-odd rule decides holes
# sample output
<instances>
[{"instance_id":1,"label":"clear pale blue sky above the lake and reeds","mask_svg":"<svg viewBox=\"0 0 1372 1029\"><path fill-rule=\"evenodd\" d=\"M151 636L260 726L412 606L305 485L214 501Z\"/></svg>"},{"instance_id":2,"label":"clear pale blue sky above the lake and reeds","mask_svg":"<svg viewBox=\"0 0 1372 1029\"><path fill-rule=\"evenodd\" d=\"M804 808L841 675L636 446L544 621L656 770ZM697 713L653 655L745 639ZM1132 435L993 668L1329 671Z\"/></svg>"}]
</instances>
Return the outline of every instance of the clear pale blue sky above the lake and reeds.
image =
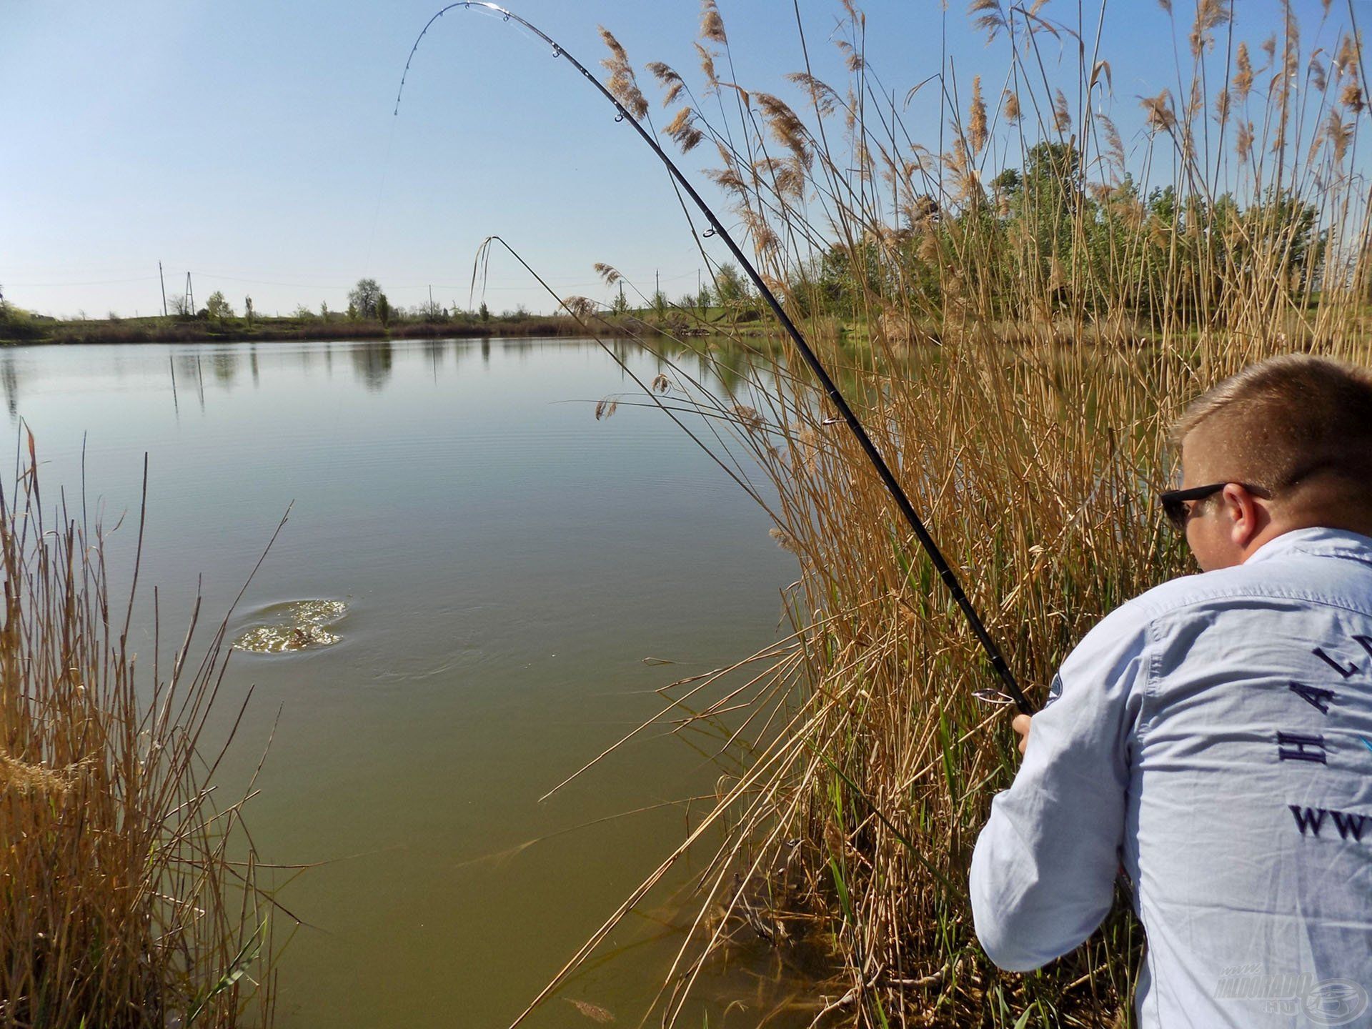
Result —
<instances>
[{"instance_id":1,"label":"clear pale blue sky above the lake and reeds","mask_svg":"<svg viewBox=\"0 0 1372 1029\"><path fill-rule=\"evenodd\" d=\"M604 55L604 23L637 67L665 60L698 84L696 0L509 5L587 64ZM475 250L493 233L563 295L608 299L597 261L645 292L654 270L672 298L694 289L701 261L661 166L565 62L512 25L450 12L420 48L392 118L410 44L439 7L0 0L5 296L52 314L148 314L161 309L161 259L169 292L193 272L199 305L222 289L237 310L244 295L262 311L321 300L340 309L347 288L373 276L392 303L420 303L432 284L436 300L466 306ZM995 102L1006 43L985 45L960 1L947 12L932 0L863 7L868 59L888 88L903 96L938 70L945 27L959 89L980 71ZM1372 25L1372 3L1353 7L1360 26ZM1184 54L1194 8L1176 8ZM803 63L790 0L720 0L720 10L741 84L799 100L782 81ZM1077 10L1055 0L1043 14L1074 25ZM1306 51L1334 49L1346 0L1323 27L1318 0L1297 10ZM837 0L801 0L801 12L816 73L841 81L826 41ZM1276 0L1244 0L1238 36L1257 51L1277 18ZM1087 27L1093 33L1093 12ZM1102 55L1128 145L1143 141L1137 97L1176 92L1172 54L1157 3L1107 7ZM1072 47L1065 59L1074 62ZM933 89L906 117L916 139L936 143ZM654 118L665 121L656 104ZM552 306L501 257L486 299L495 310Z\"/></svg>"}]
</instances>

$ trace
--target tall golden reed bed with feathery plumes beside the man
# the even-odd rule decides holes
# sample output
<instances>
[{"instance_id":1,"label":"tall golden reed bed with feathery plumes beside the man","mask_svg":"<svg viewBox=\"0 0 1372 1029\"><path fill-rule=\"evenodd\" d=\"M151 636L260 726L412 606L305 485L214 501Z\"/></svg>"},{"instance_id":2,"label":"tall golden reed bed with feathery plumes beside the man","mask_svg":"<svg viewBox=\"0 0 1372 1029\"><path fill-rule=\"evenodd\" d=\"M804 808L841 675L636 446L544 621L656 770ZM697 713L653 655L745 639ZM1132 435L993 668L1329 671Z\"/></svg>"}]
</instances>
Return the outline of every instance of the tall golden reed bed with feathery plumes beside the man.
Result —
<instances>
[{"instance_id":1,"label":"tall golden reed bed with feathery plumes beside the man","mask_svg":"<svg viewBox=\"0 0 1372 1029\"><path fill-rule=\"evenodd\" d=\"M1273 353L1372 359L1356 26L1328 4L1302 26L1283 3L1276 32L1247 40L1227 4L1162 3L1176 84L1121 111L1133 102L1078 10L974 0L960 30L986 34L1002 73L967 81L945 59L906 106L852 0L830 34L838 82L811 63L799 4L797 71L775 93L740 84L715 0L698 70L646 67L661 132L708 154L767 284L814 329L1037 700L1106 612L1191 571L1152 499L1185 401ZM611 88L652 121L605 36ZM921 103L943 126L927 145L906 125ZM1113 117L1137 125L1128 145ZM727 372L722 395L664 358L645 386L772 514L799 565L792 634L664 690L661 722L720 735L716 803L550 988L705 848L664 1025L759 947L818 947L829 977L801 1004L740 997L740 1024L1132 1024L1142 933L1125 903L1040 973L999 973L978 949L970 852L1018 764L1006 709L973 698L995 678L794 354Z\"/></svg>"}]
</instances>

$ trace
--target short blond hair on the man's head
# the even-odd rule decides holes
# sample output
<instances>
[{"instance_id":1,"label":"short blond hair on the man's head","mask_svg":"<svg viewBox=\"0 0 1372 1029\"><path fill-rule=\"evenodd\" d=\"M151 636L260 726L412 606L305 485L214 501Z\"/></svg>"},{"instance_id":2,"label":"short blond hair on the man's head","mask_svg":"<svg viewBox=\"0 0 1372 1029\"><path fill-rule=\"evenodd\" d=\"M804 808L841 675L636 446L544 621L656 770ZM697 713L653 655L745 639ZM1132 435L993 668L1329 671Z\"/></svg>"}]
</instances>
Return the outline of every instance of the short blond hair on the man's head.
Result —
<instances>
[{"instance_id":1,"label":"short blond hair on the man's head","mask_svg":"<svg viewBox=\"0 0 1372 1029\"><path fill-rule=\"evenodd\" d=\"M1172 427L1173 443L1202 427L1217 471L1233 482L1273 497L1320 482L1338 506L1372 502L1367 368L1308 354L1261 361L1192 401Z\"/></svg>"}]
</instances>

